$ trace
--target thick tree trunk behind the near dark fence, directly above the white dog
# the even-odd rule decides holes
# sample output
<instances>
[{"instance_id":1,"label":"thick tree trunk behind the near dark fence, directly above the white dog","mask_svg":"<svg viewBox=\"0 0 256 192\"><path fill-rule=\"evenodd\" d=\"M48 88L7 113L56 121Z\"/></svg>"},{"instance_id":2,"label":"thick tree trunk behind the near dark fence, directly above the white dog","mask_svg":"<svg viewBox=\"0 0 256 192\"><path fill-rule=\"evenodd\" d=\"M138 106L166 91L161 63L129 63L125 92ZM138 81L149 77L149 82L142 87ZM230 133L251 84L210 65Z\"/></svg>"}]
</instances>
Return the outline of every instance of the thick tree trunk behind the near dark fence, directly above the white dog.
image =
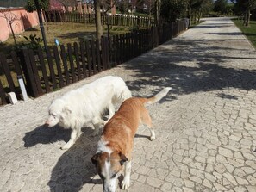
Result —
<instances>
[{"instance_id":1,"label":"thick tree trunk behind the near dark fence, directly above the white dog","mask_svg":"<svg viewBox=\"0 0 256 192\"><path fill-rule=\"evenodd\" d=\"M101 8L100 8L100 1L94 1L94 8L95 8L95 22L96 22L96 38L97 40L101 40L103 35L103 27L101 21Z\"/></svg>"}]
</instances>

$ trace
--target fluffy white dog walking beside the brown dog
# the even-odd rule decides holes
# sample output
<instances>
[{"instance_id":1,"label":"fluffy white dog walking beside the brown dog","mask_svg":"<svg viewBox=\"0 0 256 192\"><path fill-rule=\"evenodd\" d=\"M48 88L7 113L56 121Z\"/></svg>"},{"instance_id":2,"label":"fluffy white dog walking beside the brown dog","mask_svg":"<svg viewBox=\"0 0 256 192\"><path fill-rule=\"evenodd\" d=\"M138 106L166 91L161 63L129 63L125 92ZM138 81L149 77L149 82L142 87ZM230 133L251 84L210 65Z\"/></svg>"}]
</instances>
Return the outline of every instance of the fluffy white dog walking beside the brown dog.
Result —
<instances>
[{"instance_id":1,"label":"fluffy white dog walking beside the brown dog","mask_svg":"<svg viewBox=\"0 0 256 192\"><path fill-rule=\"evenodd\" d=\"M54 100L48 108L46 125L53 127L59 123L61 127L72 129L71 139L61 147L69 149L78 139L84 124L91 122L95 128L93 134L97 135L99 127L104 124L104 109L109 109L110 119L115 114L114 104L121 104L131 96L121 77L102 77Z\"/></svg>"}]
</instances>

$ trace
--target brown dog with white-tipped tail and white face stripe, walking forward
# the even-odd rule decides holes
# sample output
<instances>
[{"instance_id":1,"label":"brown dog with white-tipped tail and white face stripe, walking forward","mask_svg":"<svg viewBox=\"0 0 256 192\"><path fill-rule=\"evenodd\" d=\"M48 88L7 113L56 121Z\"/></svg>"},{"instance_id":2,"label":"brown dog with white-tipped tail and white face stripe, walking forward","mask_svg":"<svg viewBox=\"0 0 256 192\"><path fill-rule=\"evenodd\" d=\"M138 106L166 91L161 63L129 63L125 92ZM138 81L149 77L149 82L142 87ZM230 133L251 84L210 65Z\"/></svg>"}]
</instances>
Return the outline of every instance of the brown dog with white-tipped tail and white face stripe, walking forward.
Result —
<instances>
[{"instance_id":1,"label":"brown dog with white-tipped tail and white face stripe, walking forward","mask_svg":"<svg viewBox=\"0 0 256 192\"><path fill-rule=\"evenodd\" d=\"M161 90L151 98L129 98L122 102L121 107L104 126L103 134L97 144L97 153L91 158L96 165L97 173L103 180L104 192L115 192L116 179L125 164L122 189L128 189L131 174L131 153L134 135L140 121L150 130L150 140L155 139L151 128L151 118L145 104L153 104L164 97L172 88Z\"/></svg>"}]
</instances>

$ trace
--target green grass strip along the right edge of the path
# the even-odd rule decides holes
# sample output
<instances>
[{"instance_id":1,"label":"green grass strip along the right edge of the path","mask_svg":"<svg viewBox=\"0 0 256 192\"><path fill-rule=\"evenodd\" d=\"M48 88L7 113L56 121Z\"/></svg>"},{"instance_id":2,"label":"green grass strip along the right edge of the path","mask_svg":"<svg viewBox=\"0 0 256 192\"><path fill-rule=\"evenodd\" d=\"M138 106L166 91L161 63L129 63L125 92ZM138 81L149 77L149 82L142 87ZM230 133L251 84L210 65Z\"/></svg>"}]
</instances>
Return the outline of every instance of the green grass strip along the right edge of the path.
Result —
<instances>
[{"instance_id":1,"label":"green grass strip along the right edge of the path","mask_svg":"<svg viewBox=\"0 0 256 192\"><path fill-rule=\"evenodd\" d=\"M233 19L234 24L240 28L241 32L247 36L247 39L251 41L253 46L256 48L256 21L250 21L248 27L243 26L243 21Z\"/></svg>"}]
</instances>

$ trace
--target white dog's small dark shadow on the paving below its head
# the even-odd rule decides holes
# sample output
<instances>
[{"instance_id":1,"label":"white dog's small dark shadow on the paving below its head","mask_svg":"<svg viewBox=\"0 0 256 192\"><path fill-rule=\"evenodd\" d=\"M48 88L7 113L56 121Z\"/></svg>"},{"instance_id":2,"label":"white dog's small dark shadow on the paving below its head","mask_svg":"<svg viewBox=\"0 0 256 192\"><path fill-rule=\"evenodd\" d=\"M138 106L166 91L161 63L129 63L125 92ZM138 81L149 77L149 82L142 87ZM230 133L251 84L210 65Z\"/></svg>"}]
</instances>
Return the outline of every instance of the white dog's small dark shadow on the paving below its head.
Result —
<instances>
[{"instance_id":1,"label":"white dog's small dark shadow on the paving below its head","mask_svg":"<svg viewBox=\"0 0 256 192\"><path fill-rule=\"evenodd\" d=\"M24 146L32 147L37 144L54 143L59 140L67 142L70 139L71 130L62 127L45 127L41 125L36 127L33 131L25 133L23 137Z\"/></svg>"}]
</instances>

